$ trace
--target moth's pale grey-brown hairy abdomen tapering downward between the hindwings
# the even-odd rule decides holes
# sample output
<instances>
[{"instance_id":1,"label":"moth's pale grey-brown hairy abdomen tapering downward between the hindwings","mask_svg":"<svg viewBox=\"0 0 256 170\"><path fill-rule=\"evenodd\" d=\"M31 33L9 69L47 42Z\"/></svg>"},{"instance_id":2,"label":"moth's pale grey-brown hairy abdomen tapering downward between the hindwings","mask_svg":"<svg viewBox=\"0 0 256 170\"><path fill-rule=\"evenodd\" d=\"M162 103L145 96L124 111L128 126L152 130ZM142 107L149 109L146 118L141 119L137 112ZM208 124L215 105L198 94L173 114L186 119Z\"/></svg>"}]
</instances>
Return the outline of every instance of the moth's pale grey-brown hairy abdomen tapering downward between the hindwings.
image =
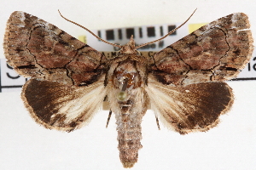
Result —
<instances>
[{"instance_id":1,"label":"moth's pale grey-brown hairy abdomen tapering downward between the hindwings","mask_svg":"<svg viewBox=\"0 0 256 170\"><path fill-rule=\"evenodd\" d=\"M144 88L136 88L130 91L128 100L119 102L117 93L118 90L108 93L108 99L116 118L119 157L124 167L133 167L137 162L138 150L143 147L141 123L148 109L148 95Z\"/></svg>"}]
</instances>

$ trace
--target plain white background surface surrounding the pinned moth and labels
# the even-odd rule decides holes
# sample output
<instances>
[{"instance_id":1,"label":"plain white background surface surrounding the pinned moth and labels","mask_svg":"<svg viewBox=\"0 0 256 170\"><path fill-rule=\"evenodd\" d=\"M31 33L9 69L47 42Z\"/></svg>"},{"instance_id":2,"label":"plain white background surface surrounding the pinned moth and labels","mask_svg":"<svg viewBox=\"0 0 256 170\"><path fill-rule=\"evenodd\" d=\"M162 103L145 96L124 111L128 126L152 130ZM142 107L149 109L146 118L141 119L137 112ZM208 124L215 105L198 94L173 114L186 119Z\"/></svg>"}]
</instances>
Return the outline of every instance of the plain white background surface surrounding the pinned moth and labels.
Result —
<instances>
[{"instance_id":1,"label":"plain white background surface surrounding the pinned moth and labels","mask_svg":"<svg viewBox=\"0 0 256 170\"><path fill-rule=\"evenodd\" d=\"M190 23L246 13L256 36L253 0L1 0L0 43L9 14L15 10L38 16L78 37L84 30L61 19L57 9L83 26L102 29L182 22L195 8ZM4 57L3 48L0 56ZM143 149L133 169L256 169L256 81L229 84L236 96L233 108L207 133L181 136L161 125L159 131L148 111L142 124ZM89 126L73 133L47 130L33 122L20 93L0 94L0 169L123 169L114 117L106 129L107 118L108 111L102 111Z\"/></svg>"}]
</instances>

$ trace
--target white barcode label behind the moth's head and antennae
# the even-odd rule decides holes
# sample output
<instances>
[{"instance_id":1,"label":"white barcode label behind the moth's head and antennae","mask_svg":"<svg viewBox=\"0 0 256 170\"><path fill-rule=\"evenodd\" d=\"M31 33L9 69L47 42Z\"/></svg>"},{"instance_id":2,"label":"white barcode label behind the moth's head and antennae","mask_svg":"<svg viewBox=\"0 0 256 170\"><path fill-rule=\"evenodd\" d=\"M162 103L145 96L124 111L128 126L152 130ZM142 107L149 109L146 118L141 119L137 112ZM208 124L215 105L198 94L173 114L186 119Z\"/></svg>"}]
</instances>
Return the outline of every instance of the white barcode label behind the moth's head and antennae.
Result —
<instances>
[{"instance_id":1,"label":"white barcode label behind the moth's head and antennae","mask_svg":"<svg viewBox=\"0 0 256 170\"><path fill-rule=\"evenodd\" d=\"M165 36L169 31L172 31L177 26L180 26L181 23L176 24L166 24L166 25L154 25L154 26L135 26L128 28L114 28L114 29L102 29L93 31L98 37L101 37L108 42L115 44L124 45L129 42L131 35L133 35L136 45L143 44L145 42L152 42L160 37ZM171 45L177 40L187 36L189 34L189 26L185 24L172 35L166 37L160 42L155 42L148 44L143 48L138 48L139 51L160 51L166 46ZM101 42L91 34L86 34L87 43L90 47L95 48L98 51L118 51L119 48L113 47L107 43ZM80 37L79 40L85 39Z\"/></svg>"}]
</instances>

